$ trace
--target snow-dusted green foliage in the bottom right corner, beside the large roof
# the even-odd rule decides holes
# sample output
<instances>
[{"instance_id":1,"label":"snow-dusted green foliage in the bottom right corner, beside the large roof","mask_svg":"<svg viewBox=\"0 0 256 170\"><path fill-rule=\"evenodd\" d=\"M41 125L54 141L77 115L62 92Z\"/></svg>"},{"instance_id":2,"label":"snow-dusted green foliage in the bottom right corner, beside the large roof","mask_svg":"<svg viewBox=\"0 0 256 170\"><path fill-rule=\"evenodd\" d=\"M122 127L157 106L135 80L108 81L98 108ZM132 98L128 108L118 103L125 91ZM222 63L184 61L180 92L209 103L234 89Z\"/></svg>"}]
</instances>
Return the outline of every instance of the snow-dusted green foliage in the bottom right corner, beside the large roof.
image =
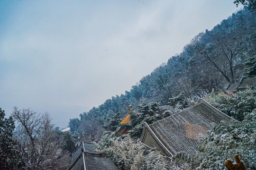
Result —
<instances>
[{"instance_id":1,"label":"snow-dusted green foliage in the bottom right corner, beside the large roof","mask_svg":"<svg viewBox=\"0 0 256 170\"><path fill-rule=\"evenodd\" d=\"M238 154L247 170L256 170L256 110L240 123L223 121L199 141L196 170L223 170L224 161Z\"/></svg>"}]
</instances>

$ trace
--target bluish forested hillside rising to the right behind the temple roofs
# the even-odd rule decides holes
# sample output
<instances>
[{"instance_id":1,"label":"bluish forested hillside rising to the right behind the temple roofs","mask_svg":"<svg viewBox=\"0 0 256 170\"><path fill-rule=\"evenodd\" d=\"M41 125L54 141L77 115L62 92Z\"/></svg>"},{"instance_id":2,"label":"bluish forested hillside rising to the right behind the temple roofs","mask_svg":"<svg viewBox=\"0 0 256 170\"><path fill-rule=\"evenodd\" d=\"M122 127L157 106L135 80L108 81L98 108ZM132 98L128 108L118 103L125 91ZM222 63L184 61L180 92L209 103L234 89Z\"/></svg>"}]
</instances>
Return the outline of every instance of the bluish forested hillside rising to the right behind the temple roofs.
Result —
<instances>
[{"instance_id":1,"label":"bluish forested hillside rising to the right behind the temple roofs","mask_svg":"<svg viewBox=\"0 0 256 170\"><path fill-rule=\"evenodd\" d=\"M80 119L70 119L69 127L74 135L99 132L104 124L114 127L128 114L130 104L135 110L145 102L182 109L243 76L255 75L256 13L245 6L212 30L196 35L181 53L144 76L130 91L80 114Z\"/></svg>"}]
</instances>

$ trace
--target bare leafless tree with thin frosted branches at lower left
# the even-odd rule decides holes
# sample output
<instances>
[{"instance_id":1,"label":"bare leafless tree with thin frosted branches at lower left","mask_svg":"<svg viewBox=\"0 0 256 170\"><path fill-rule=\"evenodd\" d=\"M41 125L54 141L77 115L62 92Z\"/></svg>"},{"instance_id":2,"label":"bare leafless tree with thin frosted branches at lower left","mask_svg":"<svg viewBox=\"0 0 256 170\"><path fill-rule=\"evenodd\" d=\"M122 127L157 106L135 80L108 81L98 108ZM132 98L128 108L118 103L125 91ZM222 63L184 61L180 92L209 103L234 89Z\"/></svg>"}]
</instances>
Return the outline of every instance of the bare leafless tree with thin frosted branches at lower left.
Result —
<instances>
[{"instance_id":1,"label":"bare leafless tree with thin frosted branches at lower left","mask_svg":"<svg viewBox=\"0 0 256 170\"><path fill-rule=\"evenodd\" d=\"M65 170L69 166L62 154L62 142L56 140L56 131L50 115L31 109L14 107L12 117L17 127L14 136L27 170Z\"/></svg>"}]
</instances>

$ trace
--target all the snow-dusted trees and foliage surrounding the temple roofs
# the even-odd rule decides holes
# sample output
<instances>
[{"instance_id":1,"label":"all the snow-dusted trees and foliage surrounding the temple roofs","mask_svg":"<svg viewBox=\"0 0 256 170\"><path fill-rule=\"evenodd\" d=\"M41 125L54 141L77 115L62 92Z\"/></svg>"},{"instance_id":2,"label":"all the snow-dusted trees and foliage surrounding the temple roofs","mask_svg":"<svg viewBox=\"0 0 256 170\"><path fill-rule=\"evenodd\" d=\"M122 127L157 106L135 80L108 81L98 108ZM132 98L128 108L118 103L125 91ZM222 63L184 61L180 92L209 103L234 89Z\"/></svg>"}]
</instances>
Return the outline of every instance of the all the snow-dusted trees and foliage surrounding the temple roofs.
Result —
<instances>
[{"instance_id":1,"label":"all the snow-dusted trees and foliage surrounding the temple roofs","mask_svg":"<svg viewBox=\"0 0 256 170\"><path fill-rule=\"evenodd\" d=\"M95 150L109 155L120 170L218 170L223 169L225 158L235 154L241 156L247 170L255 170L256 90L223 93L229 83L255 76L256 11L245 6L212 30L196 35L181 53L170 56L130 91L70 119L70 132L55 127L47 112L14 107L7 119L0 109L0 169L66 170L75 140L86 133L95 136ZM213 125L213 130L198 141L196 155L181 152L166 158L137 142L143 122L164 119L194 105L199 98L239 122ZM170 108L159 115L163 105ZM132 129L118 136L119 123L128 114Z\"/></svg>"}]
</instances>

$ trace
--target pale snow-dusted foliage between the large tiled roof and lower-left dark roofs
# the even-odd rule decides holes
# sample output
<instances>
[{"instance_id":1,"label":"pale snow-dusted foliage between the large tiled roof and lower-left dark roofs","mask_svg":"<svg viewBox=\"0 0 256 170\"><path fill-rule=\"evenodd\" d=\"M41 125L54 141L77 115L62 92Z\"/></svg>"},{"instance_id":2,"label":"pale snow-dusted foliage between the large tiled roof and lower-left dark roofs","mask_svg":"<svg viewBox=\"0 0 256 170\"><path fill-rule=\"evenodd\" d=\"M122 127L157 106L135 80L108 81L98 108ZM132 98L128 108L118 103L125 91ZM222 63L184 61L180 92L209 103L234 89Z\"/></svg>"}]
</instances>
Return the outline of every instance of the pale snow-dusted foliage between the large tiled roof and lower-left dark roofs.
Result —
<instances>
[{"instance_id":1,"label":"pale snow-dusted foliage between the large tiled roof and lower-left dark roofs","mask_svg":"<svg viewBox=\"0 0 256 170\"><path fill-rule=\"evenodd\" d=\"M143 144L133 141L130 136L115 137L106 133L96 151L109 155L120 170L169 170L168 158L156 151L146 150Z\"/></svg>"}]
</instances>

